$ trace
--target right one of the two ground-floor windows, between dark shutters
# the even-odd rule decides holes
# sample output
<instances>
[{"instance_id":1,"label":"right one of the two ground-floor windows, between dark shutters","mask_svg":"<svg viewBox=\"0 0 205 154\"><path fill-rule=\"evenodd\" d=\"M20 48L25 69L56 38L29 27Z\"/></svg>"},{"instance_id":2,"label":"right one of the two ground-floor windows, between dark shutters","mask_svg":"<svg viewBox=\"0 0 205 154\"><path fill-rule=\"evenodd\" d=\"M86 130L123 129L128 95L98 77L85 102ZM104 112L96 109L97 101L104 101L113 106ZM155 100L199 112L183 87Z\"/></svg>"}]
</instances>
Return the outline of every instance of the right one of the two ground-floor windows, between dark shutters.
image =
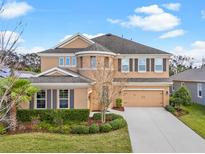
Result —
<instances>
[{"instance_id":1,"label":"right one of the two ground-floor windows, between dark shutters","mask_svg":"<svg viewBox=\"0 0 205 154\"><path fill-rule=\"evenodd\" d=\"M59 108L65 109L68 108L68 100L69 100L69 90L59 90Z\"/></svg>"}]
</instances>

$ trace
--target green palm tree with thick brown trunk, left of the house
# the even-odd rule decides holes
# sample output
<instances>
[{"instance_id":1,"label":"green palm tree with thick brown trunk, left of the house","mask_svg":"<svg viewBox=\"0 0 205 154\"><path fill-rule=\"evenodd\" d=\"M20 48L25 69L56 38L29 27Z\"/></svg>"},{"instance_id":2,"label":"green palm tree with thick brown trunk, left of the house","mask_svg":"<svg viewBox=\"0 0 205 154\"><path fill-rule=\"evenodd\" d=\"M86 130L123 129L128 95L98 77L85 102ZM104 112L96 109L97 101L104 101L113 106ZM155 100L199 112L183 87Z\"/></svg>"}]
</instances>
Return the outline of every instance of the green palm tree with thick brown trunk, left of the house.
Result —
<instances>
[{"instance_id":1,"label":"green palm tree with thick brown trunk, left of the house","mask_svg":"<svg viewBox=\"0 0 205 154\"><path fill-rule=\"evenodd\" d=\"M19 107L19 104L29 102L33 94L37 91L38 89L32 86L30 81L26 79L15 77L1 79L0 94L5 94L6 92L4 98L3 95L1 95L1 99L4 99L4 105L2 105L2 107L3 109L5 108L4 117L9 117L8 124L10 131L16 130L16 110Z\"/></svg>"}]
</instances>

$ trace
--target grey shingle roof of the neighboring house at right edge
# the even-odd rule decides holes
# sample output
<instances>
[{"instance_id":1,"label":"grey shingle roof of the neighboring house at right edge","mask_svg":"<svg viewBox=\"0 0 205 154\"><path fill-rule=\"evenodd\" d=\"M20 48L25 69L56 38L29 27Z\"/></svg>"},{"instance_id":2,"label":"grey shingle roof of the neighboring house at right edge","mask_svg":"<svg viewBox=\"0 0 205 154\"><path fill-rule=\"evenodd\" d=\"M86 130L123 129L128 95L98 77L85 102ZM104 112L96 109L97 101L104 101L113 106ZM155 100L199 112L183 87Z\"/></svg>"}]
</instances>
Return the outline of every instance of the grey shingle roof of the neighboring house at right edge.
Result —
<instances>
[{"instance_id":1,"label":"grey shingle roof of the neighboring house at right edge","mask_svg":"<svg viewBox=\"0 0 205 154\"><path fill-rule=\"evenodd\" d=\"M173 81L205 82L205 67L190 69L170 77Z\"/></svg>"}]
</instances>

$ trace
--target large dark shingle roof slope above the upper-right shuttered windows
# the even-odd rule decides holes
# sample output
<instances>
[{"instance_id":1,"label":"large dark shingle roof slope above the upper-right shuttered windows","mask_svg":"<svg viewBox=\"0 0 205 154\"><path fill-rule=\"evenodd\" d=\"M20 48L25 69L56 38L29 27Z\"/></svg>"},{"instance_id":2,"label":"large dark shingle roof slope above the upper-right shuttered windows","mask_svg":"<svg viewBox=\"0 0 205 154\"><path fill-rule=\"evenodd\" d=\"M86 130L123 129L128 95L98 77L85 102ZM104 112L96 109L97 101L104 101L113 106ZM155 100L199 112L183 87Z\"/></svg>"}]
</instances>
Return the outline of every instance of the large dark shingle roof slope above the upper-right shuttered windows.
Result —
<instances>
[{"instance_id":1,"label":"large dark shingle roof slope above the upper-right shuttered windows","mask_svg":"<svg viewBox=\"0 0 205 154\"><path fill-rule=\"evenodd\" d=\"M92 41L120 54L170 54L113 34L102 35L93 38Z\"/></svg>"}]
</instances>

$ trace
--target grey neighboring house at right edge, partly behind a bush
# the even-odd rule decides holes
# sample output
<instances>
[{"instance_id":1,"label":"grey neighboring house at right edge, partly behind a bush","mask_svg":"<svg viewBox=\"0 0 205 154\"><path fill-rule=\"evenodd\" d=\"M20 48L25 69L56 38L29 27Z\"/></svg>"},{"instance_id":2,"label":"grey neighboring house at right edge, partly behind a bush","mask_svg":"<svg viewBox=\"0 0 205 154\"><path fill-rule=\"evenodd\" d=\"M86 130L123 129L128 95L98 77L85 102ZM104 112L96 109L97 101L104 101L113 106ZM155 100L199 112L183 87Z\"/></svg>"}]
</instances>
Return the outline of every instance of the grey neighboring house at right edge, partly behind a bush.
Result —
<instances>
[{"instance_id":1,"label":"grey neighboring house at right edge, partly behind a bush","mask_svg":"<svg viewBox=\"0 0 205 154\"><path fill-rule=\"evenodd\" d=\"M181 86L186 86L192 95L192 100L205 105L205 67L186 70L171 76L171 79L173 92Z\"/></svg>"}]
</instances>

